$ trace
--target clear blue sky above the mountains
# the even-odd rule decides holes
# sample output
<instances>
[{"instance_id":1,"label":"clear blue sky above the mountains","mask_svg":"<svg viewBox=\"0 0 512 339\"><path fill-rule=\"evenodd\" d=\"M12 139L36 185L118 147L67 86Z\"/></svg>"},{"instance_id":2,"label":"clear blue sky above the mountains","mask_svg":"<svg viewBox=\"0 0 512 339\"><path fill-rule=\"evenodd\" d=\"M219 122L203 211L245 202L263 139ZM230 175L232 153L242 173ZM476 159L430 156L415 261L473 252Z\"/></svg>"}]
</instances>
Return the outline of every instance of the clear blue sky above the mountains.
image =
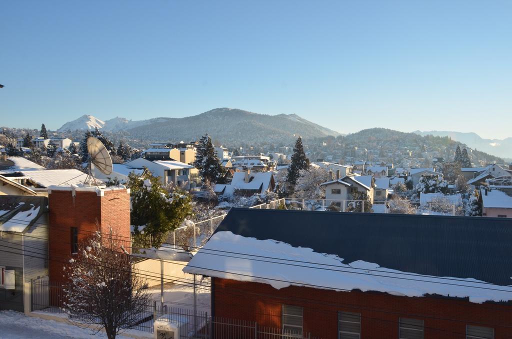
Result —
<instances>
[{"instance_id":1,"label":"clear blue sky above the mountains","mask_svg":"<svg viewBox=\"0 0 512 339\"><path fill-rule=\"evenodd\" d=\"M4 1L0 125L295 113L512 137L510 1Z\"/></svg>"}]
</instances>

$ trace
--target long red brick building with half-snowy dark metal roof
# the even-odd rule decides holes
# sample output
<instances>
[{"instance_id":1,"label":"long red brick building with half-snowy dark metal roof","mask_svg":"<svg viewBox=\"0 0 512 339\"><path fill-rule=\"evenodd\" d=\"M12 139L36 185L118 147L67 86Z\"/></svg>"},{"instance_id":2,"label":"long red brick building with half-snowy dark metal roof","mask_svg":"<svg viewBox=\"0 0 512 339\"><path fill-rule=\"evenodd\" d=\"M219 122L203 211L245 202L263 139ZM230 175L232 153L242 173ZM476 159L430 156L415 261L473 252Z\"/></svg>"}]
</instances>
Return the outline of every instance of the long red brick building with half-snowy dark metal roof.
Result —
<instances>
[{"instance_id":1,"label":"long red brick building with half-snowy dark metal roof","mask_svg":"<svg viewBox=\"0 0 512 339\"><path fill-rule=\"evenodd\" d=\"M232 208L185 272L212 315L323 338L512 338L512 223Z\"/></svg>"}]
</instances>

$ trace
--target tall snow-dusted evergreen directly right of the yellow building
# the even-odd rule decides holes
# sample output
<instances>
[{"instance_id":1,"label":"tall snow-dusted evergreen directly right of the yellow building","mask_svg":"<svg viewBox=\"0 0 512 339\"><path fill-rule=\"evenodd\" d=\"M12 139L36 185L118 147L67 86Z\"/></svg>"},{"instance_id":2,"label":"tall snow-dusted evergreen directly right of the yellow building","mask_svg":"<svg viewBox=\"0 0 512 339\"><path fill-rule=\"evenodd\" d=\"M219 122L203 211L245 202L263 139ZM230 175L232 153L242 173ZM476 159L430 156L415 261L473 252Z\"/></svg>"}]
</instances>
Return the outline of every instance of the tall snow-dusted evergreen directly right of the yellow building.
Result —
<instances>
[{"instance_id":1,"label":"tall snow-dusted evergreen directly right of the yellow building","mask_svg":"<svg viewBox=\"0 0 512 339\"><path fill-rule=\"evenodd\" d=\"M216 183L226 172L217 157L214 144L211 142L211 138L208 134L205 134L201 140L199 140L194 166L199 169L199 174L203 179L210 183Z\"/></svg>"}]
</instances>

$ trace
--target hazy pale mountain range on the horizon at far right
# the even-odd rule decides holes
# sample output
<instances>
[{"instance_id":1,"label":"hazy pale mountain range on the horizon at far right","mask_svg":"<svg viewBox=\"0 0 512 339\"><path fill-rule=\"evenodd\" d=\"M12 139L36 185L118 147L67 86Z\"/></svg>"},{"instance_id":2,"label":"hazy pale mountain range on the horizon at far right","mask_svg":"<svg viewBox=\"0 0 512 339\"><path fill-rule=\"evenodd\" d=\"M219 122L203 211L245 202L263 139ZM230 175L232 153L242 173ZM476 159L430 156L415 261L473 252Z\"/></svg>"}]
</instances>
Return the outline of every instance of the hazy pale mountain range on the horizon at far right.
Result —
<instances>
[{"instance_id":1,"label":"hazy pale mountain range on the horizon at far right","mask_svg":"<svg viewBox=\"0 0 512 339\"><path fill-rule=\"evenodd\" d=\"M512 138L500 139L483 139L476 133L463 133L452 131L414 131L413 133L425 136L433 135L436 137L450 137L452 140L462 142L473 149L494 154L502 158L512 158Z\"/></svg>"}]
</instances>

